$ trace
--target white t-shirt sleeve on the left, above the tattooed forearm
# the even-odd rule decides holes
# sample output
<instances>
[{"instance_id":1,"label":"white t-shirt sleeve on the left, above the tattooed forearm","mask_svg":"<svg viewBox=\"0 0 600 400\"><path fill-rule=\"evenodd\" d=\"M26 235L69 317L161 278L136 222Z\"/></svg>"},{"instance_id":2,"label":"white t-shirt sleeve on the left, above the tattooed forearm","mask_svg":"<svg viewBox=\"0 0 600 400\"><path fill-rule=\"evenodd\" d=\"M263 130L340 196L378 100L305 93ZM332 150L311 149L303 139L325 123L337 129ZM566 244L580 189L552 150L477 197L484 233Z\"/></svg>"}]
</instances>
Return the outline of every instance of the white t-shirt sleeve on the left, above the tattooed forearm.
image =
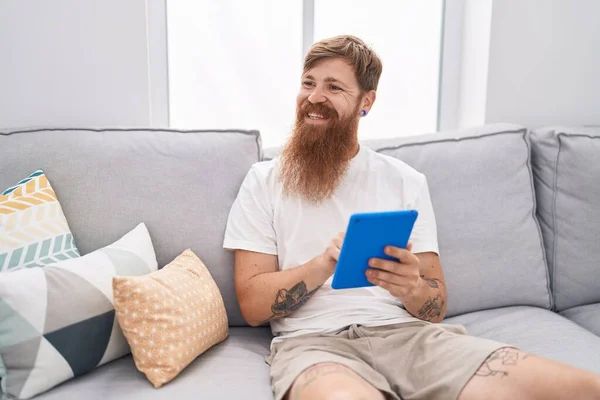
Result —
<instances>
[{"instance_id":1,"label":"white t-shirt sleeve on the left, above the tattooed forearm","mask_svg":"<svg viewBox=\"0 0 600 400\"><path fill-rule=\"evenodd\" d=\"M228 250L277 254L273 207L266 177L256 166L248 171L233 202L227 219L223 247Z\"/></svg>"}]
</instances>

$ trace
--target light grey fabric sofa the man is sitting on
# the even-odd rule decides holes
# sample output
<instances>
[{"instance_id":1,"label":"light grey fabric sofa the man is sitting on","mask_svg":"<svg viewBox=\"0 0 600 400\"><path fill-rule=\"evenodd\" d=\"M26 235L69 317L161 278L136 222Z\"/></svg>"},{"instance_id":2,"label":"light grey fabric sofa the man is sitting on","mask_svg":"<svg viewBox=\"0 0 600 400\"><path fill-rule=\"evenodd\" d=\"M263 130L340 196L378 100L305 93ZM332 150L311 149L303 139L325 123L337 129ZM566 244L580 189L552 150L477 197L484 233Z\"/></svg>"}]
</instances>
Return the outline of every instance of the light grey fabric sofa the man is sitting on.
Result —
<instances>
[{"instance_id":1,"label":"light grey fabric sofa the man is sitting on","mask_svg":"<svg viewBox=\"0 0 600 400\"><path fill-rule=\"evenodd\" d=\"M491 124L362 145L427 176L448 287L444 323L600 373L600 128ZM229 324L225 341L160 389L126 355L37 398L272 398L271 331L241 317L222 241L246 172L278 152L246 130L0 132L0 189L42 168L81 255L142 222L158 268L192 249Z\"/></svg>"}]
</instances>

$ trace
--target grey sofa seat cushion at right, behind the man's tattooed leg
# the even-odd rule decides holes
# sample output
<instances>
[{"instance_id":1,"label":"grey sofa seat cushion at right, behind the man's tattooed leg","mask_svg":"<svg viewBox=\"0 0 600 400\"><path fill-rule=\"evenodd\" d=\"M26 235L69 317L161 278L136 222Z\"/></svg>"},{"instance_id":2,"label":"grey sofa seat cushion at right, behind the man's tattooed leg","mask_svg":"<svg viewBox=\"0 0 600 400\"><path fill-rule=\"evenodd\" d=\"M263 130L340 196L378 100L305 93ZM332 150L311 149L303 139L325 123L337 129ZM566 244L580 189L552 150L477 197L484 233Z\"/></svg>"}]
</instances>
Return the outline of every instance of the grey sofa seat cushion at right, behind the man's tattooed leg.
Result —
<instances>
[{"instance_id":1,"label":"grey sofa seat cushion at right, behind the man's tattooed leg","mask_svg":"<svg viewBox=\"0 0 600 400\"><path fill-rule=\"evenodd\" d=\"M600 338L552 311L507 307L448 318L444 322L464 325L473 336L600 373Z\"/></svg>"}]
</instances>

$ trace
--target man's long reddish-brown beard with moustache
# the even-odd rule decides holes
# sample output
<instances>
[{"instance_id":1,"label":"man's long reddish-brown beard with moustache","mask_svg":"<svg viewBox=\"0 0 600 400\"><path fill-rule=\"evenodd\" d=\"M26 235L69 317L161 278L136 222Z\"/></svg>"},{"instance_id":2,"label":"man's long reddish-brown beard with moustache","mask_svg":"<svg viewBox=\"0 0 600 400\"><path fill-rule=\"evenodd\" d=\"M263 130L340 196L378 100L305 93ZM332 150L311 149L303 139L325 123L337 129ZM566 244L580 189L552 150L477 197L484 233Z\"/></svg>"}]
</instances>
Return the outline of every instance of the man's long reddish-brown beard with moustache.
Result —
<instances>
[{"instance_id":1,"label":"man's long reddish-brown beard with moustache","mask_svg":"<svg viewBox=\"0 0 600 400\"><path fill-rule=\"evenodd\" d=\"M335 192L344 177L355 148L358 108L340 120L337 112L321 103L305 101L298 107L292 135L281 153L279 178L284 195L300 196L319 204ZM317 113L327 125L309 125L305 117Z\"/></svg>"}]
</instances>

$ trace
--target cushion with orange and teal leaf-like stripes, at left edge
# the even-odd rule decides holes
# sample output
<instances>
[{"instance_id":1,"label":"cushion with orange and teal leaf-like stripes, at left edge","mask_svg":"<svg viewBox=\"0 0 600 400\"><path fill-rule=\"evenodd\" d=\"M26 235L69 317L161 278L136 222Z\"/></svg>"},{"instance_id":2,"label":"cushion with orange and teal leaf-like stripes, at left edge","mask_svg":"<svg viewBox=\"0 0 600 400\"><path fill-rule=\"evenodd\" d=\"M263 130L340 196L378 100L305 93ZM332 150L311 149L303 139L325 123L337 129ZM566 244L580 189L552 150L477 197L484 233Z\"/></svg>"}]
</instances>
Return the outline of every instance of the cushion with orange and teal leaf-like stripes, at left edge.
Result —
<instances>
[{"instance_id":1,"label":"cushion with orange and teal leaf-like stripes, at left edge","mask_svg":"<svg viewBox=\"0 0 600 400\"><path fill-rule=\"evenodd\" d=\"M77 257L79 250L43 171L0 195L0 273Z\"/></svg>"}]
</instances>

